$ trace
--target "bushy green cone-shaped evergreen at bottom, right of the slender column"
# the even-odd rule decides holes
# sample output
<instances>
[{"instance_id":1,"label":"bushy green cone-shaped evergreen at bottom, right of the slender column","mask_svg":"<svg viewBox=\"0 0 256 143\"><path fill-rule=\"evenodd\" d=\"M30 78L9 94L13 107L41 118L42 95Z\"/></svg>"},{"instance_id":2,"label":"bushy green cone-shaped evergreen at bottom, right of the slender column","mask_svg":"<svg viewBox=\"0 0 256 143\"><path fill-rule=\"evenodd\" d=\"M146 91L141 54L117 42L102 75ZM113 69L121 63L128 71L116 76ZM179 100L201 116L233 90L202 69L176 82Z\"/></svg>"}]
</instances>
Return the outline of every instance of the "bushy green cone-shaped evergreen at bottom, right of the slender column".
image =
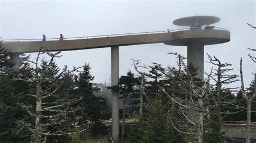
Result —
<instances>
[{"instance_id":1,"label":"bushy green cone-shaped evergreen at bottom, right of the slender column","mask_svg":"<svg viewBox=\"0 0 256 143\"><path fill-rule=\"evenodd\" d=\"M157 95L145 105L143 120L131 128L131 142L185 142L174 130L167 106Z\"/></svg>"}]
</instances>

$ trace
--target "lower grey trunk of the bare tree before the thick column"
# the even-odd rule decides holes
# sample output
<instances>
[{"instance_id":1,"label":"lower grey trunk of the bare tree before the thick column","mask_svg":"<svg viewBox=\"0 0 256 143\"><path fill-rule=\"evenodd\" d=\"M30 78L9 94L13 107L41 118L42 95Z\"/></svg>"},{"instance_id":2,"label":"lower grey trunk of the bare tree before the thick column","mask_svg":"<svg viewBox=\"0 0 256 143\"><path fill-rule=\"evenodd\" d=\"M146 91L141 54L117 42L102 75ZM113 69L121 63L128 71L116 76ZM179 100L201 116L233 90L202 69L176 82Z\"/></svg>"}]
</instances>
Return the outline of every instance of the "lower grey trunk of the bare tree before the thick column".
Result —
<instances>
[{"instance_id":1,"label":"lower grey trunk of the bare tree before the thick column","mask_svg":"<svg viewBox=\"0 0 256 143\"><path fill-rule=\"evenodd\" d=\"M198 98L199 105L199 117L198 117L198 133L197 133L197 142L203 142L203 99Z\"/></svg>"}]
</instances>

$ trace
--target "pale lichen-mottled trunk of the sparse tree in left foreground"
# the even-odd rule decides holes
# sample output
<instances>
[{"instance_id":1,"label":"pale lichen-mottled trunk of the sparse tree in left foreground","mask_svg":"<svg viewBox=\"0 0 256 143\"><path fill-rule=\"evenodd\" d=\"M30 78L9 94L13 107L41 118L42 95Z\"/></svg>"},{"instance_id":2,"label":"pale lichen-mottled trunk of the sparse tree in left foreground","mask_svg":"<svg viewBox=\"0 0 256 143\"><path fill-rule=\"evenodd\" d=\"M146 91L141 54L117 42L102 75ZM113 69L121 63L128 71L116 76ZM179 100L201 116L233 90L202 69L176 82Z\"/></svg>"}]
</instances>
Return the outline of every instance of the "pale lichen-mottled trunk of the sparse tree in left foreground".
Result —
<instances>
[{"instance_id":1,"label":"pale lichen-mottled trunk of the sparse tree in left foreground","mask_svg":"<svg viewBox=\"0 0 256 143\"><path fill-rule=\"evenodd\" d=\"M37 94L36 94L36 121L35 121L35 136L36 142L41 142L41 108L42 108L42 89L41 85L37 84Z\"/></svg>"}]
</instances>

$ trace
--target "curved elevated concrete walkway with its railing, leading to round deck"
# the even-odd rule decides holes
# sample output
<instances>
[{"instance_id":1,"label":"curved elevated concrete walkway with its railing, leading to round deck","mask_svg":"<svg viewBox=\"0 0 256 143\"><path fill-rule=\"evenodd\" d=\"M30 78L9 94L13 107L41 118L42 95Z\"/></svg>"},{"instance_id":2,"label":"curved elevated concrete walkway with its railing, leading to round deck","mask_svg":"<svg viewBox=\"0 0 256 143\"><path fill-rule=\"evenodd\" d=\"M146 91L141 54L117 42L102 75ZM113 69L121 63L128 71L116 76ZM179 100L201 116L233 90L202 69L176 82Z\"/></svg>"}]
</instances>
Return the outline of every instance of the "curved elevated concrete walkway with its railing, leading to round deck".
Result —
<instances>
[{"instance_id":1,"label":"curved elevated concrete walkway with its railing, leading to round deck","mask_svg":"<svg viewBox=\"0 0 256 143\"><path fill-rule=\"evenodd\" d=\"M182 28L170 31L72 37L65 38L64 41L59 41L59 38L51 38L46 39L47 41L42 41L42 39L3 39L3 42L6 45L6 48L11 51L11 53L29 53L38 52L41 47L43 47L43 50L48 51L71 51L77 49L129 46L160 42L164 42L167 45L172 45L171 41L177 41L178 39L205 37L210 39L221 39L218 40L219 44L230 40L230 32L225 28L214 28L212 30L190 30L190 28Z\"/></svg>"}]
</instances>

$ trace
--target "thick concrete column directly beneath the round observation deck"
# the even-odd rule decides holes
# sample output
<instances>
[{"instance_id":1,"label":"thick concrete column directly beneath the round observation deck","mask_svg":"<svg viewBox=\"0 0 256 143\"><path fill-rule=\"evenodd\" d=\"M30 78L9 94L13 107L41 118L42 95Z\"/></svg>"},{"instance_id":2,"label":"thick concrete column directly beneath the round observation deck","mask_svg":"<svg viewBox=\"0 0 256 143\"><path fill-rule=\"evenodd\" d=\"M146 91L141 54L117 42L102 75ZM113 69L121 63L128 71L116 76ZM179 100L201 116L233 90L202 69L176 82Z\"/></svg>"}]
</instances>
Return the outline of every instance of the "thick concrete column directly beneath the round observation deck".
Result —
<instances>
[{"instance_id":1,"label":"thick concrete column directly beneath the round observation deck","mask_svg":"<svg viewBox=\"0 0 256 143\"><path fill-rule=\"evenodd\" d=\"M187 46L187 65L192 63L197 68L197 76L204 80L204 44L193 41Z\"/></svg>"}]
</instances>

